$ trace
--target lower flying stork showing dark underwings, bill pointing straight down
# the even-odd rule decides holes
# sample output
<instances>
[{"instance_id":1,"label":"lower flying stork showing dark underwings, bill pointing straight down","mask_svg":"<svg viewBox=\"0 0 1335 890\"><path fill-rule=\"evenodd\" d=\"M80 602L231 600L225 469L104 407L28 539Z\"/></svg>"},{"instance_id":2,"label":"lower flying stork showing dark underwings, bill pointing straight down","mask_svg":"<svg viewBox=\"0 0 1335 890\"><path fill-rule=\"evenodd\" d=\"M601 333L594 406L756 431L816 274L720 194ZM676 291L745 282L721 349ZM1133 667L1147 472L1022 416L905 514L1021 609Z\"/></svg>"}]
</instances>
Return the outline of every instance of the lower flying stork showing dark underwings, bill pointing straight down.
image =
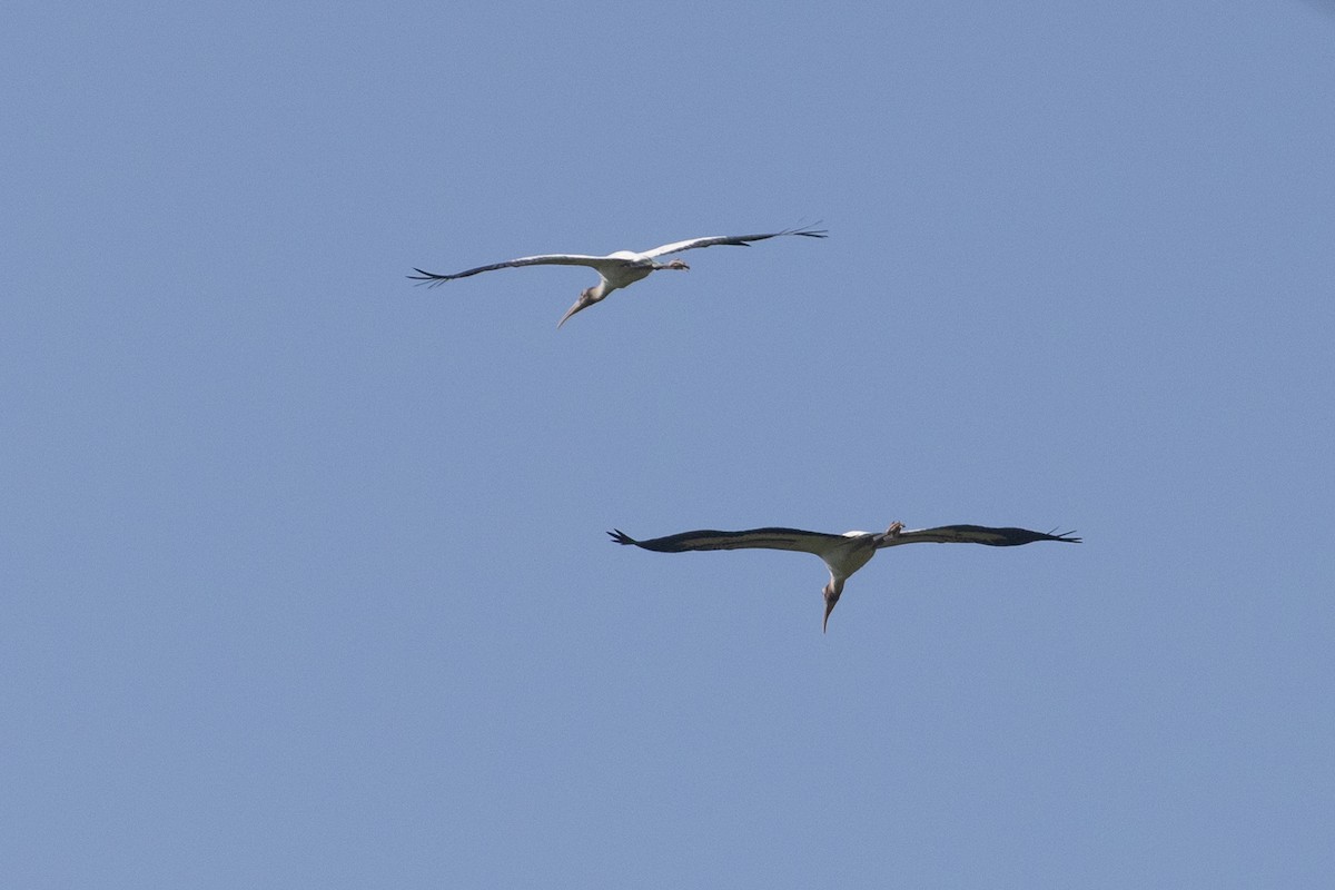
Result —
<instances>
[{"instance_id":1,"label":"lower flying stork showing dark underwings, bill pointing straight down","mask_svg":"<svg viewBox=\"0 0 1335 890\"><path fill-rule=\"evenodd\" d=\"M902 522L890 523L882 532L845 531L834 535L824 531L802 531L801 528L749 528L746 531L684 531L666 538L635 540L621 530L607 532L618 544L634 544L661 554L680 554L688 550L742 550L760 547L764 550L797 550L816 554L830 570L830 580L821 590L825 594L825 620L821 632L829 624L834 603L844 592L844 582L849 575L865 566L881 547L917 544L924 542L949 544L987 544L989 547L1017 547L1036 540L1064 540L1080 543L1073 531L1055 535L1028 528L989 528L987 526L940 526L937 528L905 530Z\"/></svg>"}]
</instances>

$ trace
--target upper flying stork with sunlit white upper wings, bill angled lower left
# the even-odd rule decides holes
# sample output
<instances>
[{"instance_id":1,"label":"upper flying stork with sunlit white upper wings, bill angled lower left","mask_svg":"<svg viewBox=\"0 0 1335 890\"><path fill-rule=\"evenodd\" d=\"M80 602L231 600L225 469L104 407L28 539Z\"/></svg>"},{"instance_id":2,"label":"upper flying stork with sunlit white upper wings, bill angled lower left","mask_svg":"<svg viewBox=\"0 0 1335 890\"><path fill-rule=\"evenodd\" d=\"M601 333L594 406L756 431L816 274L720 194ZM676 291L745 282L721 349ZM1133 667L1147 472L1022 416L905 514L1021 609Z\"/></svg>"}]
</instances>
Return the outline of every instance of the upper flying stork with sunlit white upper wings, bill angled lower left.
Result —
<instances>
[{"instance_id":1,"label":"upper flying stork with sunlit white upper wings, bill angled lower left","mask_svg":"<svg viewBox=\"0 0 1335 890\"><path fill-rule=\"evenodd\" d=\"M579 294L579 299L575 300L575 304L566 310L566 314L561 316L559 322L557 322L557 327L559 328L566 323L566 319L575 312L586 310L594 303L607 299L607 295L618 288L627 287L642 278L647 278L650 272L657 272L661 268L690 268L682 260L658 263L655 260L659 256L681 254L682 251L693 251L697 247L713 247L716 244L748 247L752 242L764 242L769 238L781 238L785 235L825 238L826 231L817 228L786 228L782 232L769 232L766 235L712 235L709 238L693 238L685 242L673 242L672 244L663 244L662 247L655 247L642 254L635 254L634 251L617 251L615 254L607 254L606 256L587 256L585 254L539 254L538 256L521 256L517 260L493 263L491 266L479 266L477 268L465 270L463 272L455 272L454 275L437 275L435 272L425 272L419 268L414 268L413 271L417 272L417 275L409 275L409 278L417 280L419 284L437 287L439 284L445 284L446 282L453 282L457 278L467 278L470 275L477 275L478 272L491 272L498 268L510 268L515 266L590 266L598 270L598 283Z\"/></svg>"}]
</instances>

